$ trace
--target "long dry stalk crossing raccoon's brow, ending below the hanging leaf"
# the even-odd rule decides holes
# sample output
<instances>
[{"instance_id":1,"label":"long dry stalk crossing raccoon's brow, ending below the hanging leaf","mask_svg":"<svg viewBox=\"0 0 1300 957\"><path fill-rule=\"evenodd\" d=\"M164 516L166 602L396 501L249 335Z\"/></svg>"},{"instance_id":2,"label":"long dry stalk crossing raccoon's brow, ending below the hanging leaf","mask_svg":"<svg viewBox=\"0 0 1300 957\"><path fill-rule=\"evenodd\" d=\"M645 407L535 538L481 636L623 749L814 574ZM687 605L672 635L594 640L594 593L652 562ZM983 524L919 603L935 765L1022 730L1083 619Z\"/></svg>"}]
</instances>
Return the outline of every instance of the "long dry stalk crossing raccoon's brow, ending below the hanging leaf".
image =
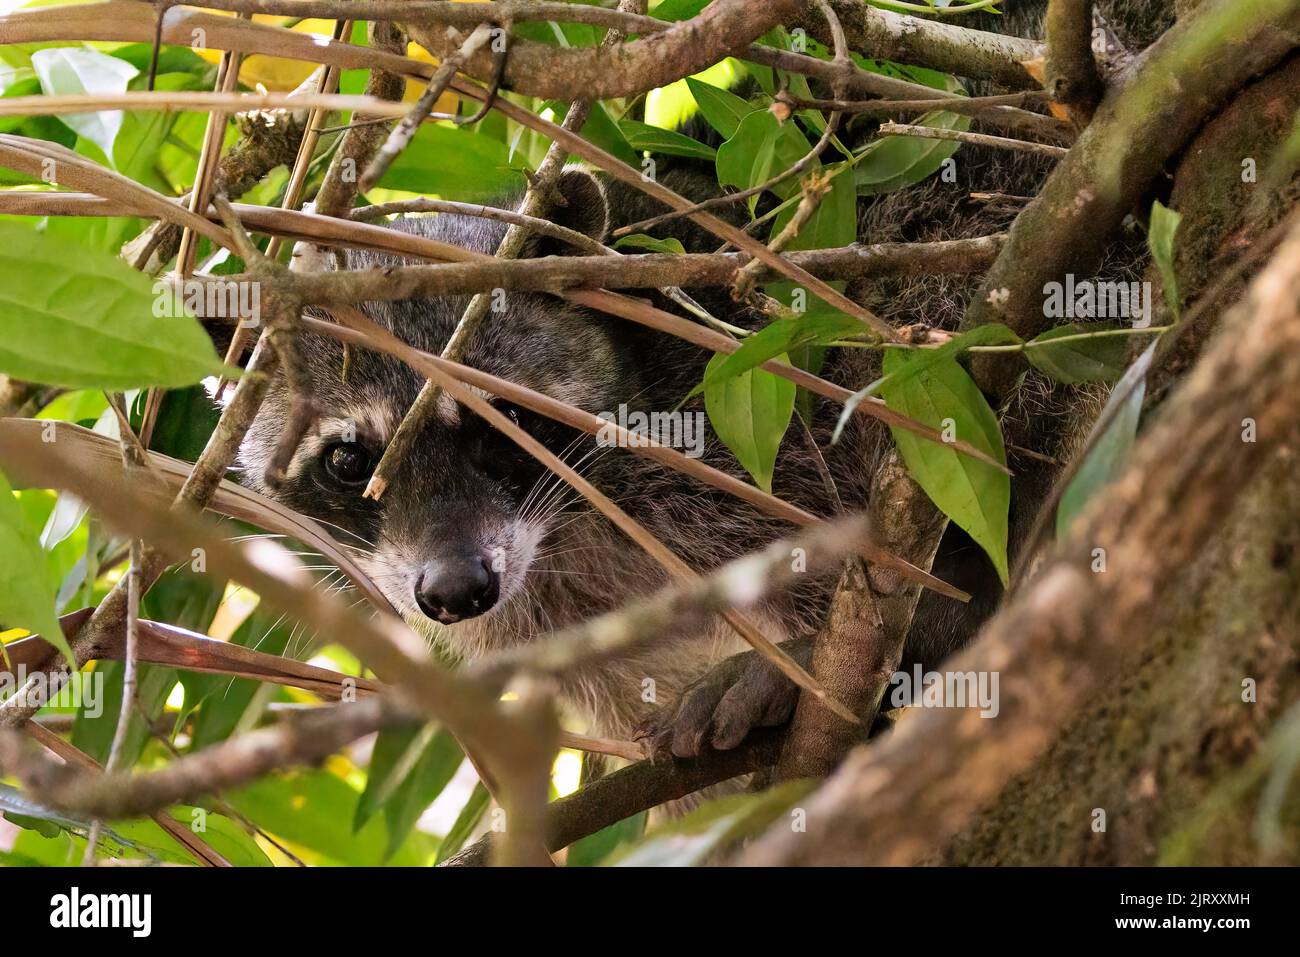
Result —
<instances>
[{"instance_id":1,"label":"long dry stalk crossing raccoon's brow, ending below the hanging leaf","mask_svg":"<svg viewBox=\"0 0 1300 957\"><path fill-rule=\"evenodd\" d=\"M698 478L715 489L749 502L768 515L797 525L815 525L820 523L818 516L800 508L798 506L763 492L762 489L741 481L734 476L727 475L725 472L722 472L698 459L692 459L676 449L660 445L649 437L630 433L618 423L607 421L599 416L580 410L576 406L571 406L566 402L560 402L559 399L554 399L550 395L533 391L532 389L511 382L510 380L493 376L488 372L481 372L460 363L450 361L429 352L421 352L420 350L406 345L382 326L376 325L363 315L355 313L354 311L344 309L339 313L339 317L343 321L343 325L304 317L303 328L306 330L330 335L346 343L386 352L402 359L417 372L424 373L426 377L433 377L438 372L442 372L452 376L468 386L498 395L508 402L523 406L524 408L537 412L538 415L543 415L547 419L552 419L554 421L563 423L571 428L580 429L588 434L595 436L602 432L614 432L615 442L619 447L630 449L638 455L682 472L684 475L689 475L693 478ZM966 601L970 598L970 596L965 592L961 592L942 580L936 579L905 562L898 562L898 559L888 551L878 549L871 544L863 546L862 554L864 558L893 568L909 580L923 584L940 594L957 598L958 601Z\"/></svg>"}]
</instances>

